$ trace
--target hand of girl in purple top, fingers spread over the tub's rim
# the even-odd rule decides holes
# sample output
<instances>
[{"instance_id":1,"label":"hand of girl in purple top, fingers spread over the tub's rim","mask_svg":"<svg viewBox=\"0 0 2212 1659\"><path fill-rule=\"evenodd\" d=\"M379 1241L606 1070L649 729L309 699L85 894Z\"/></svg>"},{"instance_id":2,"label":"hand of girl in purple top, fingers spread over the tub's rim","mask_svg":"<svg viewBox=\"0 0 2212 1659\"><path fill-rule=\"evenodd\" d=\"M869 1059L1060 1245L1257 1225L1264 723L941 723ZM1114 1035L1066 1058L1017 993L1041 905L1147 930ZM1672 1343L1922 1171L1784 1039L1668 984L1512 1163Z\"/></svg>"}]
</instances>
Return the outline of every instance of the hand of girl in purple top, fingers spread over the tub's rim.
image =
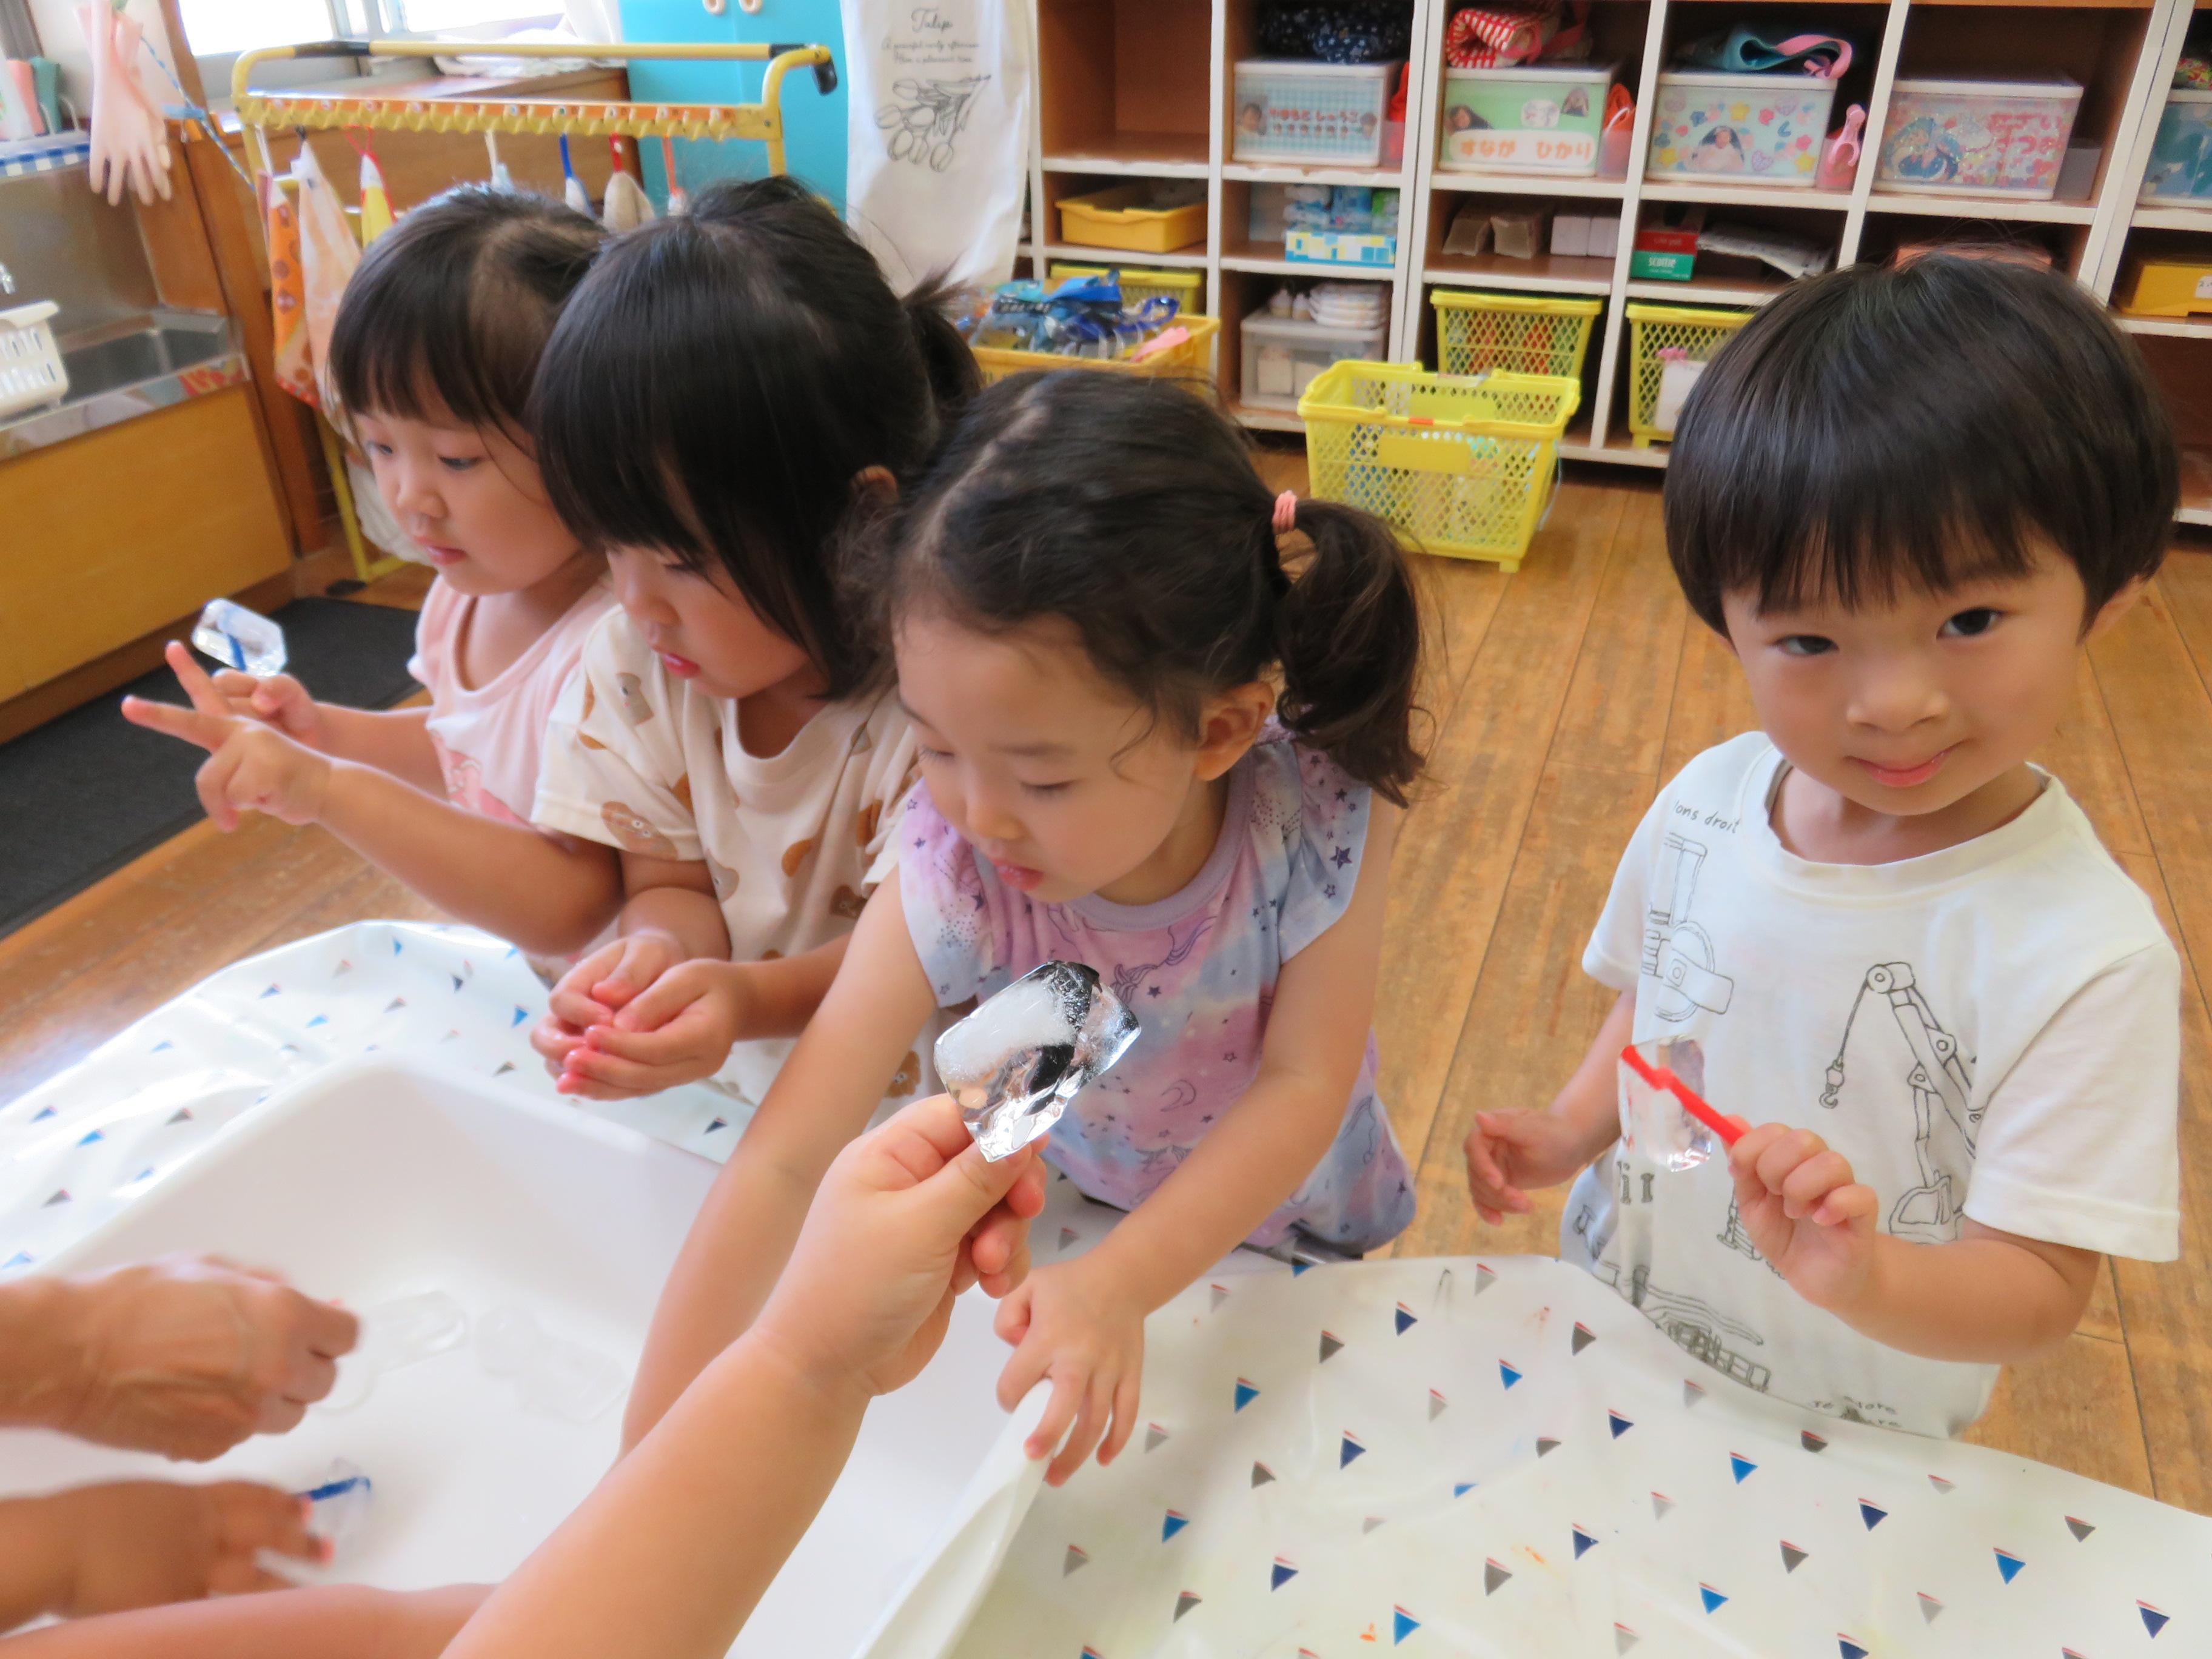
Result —
<instances>
[{"instance_id":1,"label":"hand of girl in purple top, fingers spread over the tub's rim","mask_svg":"<svg viewBox=\"0 0 2212 1659\"><path fill-rule=\"evenodd\" d=\"M1053 1385L1024 1444L1031 1458L1060 1447L1044 1471L1048 1484L1082 1469L1093 1447L1108 1464L1128 1444L1144 1383L1144 1314L1102 1259L1037 1267L1000 1303L998 1334L1013 1343L1013 1358L1000 1371L998 1402L1013 1411L1040 1380Z\"/></svg>"}]
</instances>

